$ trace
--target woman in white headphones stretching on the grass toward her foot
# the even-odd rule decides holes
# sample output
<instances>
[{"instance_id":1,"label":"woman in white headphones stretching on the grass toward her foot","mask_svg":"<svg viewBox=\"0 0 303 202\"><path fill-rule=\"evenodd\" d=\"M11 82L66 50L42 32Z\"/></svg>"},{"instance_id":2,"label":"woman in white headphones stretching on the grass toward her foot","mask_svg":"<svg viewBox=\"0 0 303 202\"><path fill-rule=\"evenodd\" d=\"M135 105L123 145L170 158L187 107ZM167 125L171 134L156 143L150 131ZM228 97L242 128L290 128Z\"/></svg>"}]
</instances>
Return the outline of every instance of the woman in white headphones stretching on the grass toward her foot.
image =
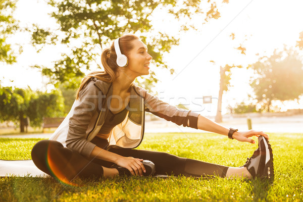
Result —
<instances>
[{"instance_id":1,"label":"woman in white headphones stretching on the grass toward her foot","mask_svg":"<svg viewBox=\"0 0 303 202\"><path fill-rule=\"evenodd\" d=\"M267 134L227 129L197 113L170 106L134 84L136 77L149 74L152 59L138 37L127 34L116 39L101 57L105 72L93 72L83 79L61 126L49 140L33 147L32 159L40 170L61 180L76 176L142 176L153 174L154 163L158 175L273 178ZM259 148L239 168L133 149L144 135L144 112L238 141L255 143L248 137L258 136Z\"/></svg>"}]
</instances>

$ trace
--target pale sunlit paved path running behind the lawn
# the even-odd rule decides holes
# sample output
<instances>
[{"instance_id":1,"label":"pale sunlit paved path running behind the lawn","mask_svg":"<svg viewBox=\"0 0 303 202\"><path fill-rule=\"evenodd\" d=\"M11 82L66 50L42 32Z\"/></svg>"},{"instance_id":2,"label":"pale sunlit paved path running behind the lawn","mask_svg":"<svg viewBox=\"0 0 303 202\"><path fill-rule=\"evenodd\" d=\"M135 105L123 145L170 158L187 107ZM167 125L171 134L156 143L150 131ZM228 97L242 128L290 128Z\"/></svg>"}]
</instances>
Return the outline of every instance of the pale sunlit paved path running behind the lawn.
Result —
<instances>
[{"instance_id":1,"label":"pale sunlit paved path running behind the lawn","mask_svg":"<svg viewBox=\"0 0 303 202\"><path fill-rule=\"evenodd\" d=\"M254 117L251 118L252 129L264 132L284 132L284 133L303 133L303 115L289 117ZM246 118L225 118L221 125L227 128L238 128L239 130L247 130ZM166 120L146 121L145 132L205 132L193 128L178 126ZM27 134L27 135L1 135L7 138L49 138L52 133Z\"/></svg>"}]
</instances>

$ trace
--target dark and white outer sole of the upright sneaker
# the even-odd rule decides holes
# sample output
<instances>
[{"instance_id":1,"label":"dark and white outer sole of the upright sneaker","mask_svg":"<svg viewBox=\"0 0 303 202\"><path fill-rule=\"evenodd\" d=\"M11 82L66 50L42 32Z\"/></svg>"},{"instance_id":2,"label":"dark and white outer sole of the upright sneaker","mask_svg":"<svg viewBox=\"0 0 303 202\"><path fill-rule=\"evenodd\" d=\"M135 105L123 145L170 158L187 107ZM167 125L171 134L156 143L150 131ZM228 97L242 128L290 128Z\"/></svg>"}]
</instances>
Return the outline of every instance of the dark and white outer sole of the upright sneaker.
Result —
<instances>
[{"instance_id":1,"label":"dark and white outer sole of the upright sneaker","mask_svg":"<svg viewBox=\"0 0 303 202\"><path fill-rule=\"evenodd\" d=\"M271 144L269 141L262 136L265 150L266 150L266 160L265 160L265 167L262 172L262 178L266 178L268 180L274 181L274 156L273 156L273 149L271 148Z\"/></svg>"}]
</instances>

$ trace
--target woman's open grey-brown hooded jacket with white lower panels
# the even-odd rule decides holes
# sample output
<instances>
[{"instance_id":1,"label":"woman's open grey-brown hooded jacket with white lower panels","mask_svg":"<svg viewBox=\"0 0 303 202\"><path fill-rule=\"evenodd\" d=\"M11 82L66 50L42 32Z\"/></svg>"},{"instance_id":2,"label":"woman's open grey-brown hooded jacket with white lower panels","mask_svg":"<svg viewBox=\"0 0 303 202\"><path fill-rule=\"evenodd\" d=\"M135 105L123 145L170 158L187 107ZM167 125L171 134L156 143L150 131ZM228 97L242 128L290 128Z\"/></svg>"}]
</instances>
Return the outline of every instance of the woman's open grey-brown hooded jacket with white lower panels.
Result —
<instances>
[{"instance_id":1,"label":"woman's open grey-brown hooded jacket with white lower panels","mask_svg":"<svg viewBox=\"0 0 303 202\"><path fill-rule=\"evenodd\" d=\"M50 139L61 142L64 146L89 157L95 144L90 142L102 127L109 112L113 95L113 84L92 78L80 91L79 99L54 132ZM178 109L159 100L158 97L146 92L144 88L134 85L130 89L128 113L113 128L108 138L109 146L135 148L139 146L144 135L144 112L150 112L172 121L177 125L197 129L197 113Z\"/></svg>"}]
</instances>

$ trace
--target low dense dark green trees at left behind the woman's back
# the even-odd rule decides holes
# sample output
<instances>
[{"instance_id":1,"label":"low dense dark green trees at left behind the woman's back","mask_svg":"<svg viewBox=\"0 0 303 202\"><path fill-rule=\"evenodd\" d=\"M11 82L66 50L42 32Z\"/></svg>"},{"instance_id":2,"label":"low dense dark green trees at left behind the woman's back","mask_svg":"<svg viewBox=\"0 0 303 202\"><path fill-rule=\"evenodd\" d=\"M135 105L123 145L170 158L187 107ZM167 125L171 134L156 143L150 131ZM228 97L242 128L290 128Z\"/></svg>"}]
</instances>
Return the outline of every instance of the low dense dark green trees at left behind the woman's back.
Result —
<instances>
[{"instance_id":1,"label":"low dense dark green trees at left behind the woman's back","mask_svg":"<svg viewBox=\"0 0 303 202\"><path fill-rule=\"evenodd\" d=\"M24 132L24 118L29 117L31 126L41 126L43 117L61 116L63 107L63 97L57 90L33 92L30 88L0 85L0 121L19 122L20 132Z\"/></svg>"}]
</instances>

